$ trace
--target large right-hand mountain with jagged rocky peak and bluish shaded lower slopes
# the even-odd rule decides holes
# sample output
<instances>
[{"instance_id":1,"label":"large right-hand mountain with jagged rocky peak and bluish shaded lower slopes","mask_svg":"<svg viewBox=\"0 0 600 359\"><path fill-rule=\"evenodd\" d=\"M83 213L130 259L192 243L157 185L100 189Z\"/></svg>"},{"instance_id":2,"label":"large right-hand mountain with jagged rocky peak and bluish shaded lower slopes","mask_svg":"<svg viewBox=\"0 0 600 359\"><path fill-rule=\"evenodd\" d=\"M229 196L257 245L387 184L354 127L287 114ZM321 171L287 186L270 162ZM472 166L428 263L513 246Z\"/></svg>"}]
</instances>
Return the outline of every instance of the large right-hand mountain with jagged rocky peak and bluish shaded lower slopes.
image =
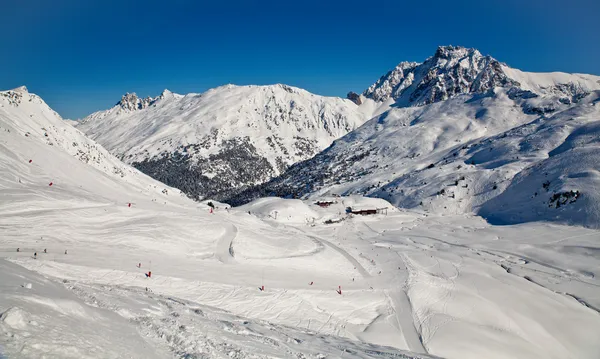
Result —
<instances>
[{"instance_id":1,"label":"large right-hand mountain with jagged rocky peak and bluish shaded lower slopes","mask_svg":"<svg viewBox=\"0 0 600 359\"><path fill-rule=\"evenodd\" d=\"M474 49L402 63L363 97L397 102L314 158L232 197L361 193L496 223L600 226L600 77L526 73Z\"/></svg>"}]
</instances>

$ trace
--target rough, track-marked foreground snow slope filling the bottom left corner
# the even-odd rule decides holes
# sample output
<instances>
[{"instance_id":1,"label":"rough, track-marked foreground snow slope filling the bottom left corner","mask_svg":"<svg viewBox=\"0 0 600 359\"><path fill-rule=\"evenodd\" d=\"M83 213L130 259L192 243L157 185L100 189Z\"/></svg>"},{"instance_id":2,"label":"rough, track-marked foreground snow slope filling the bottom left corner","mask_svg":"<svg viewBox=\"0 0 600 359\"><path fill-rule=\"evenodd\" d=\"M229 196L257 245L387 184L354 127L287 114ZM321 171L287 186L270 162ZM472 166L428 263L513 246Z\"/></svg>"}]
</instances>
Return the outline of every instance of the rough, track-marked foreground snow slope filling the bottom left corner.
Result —
<instances>
[{"instance_id":1,"label":"rough, track-marked foreground snow slope filling the bottom left corner","mask_svg":"<svg viewBox=\"0 0 600 359\"><path fill-rule=\"evenodd\" d=\"M2 259L0 275L0 355L9 358L321 358L344 350L355 358L430 358L145 289L59 282Z\"/></svg>"}]
</instances>

